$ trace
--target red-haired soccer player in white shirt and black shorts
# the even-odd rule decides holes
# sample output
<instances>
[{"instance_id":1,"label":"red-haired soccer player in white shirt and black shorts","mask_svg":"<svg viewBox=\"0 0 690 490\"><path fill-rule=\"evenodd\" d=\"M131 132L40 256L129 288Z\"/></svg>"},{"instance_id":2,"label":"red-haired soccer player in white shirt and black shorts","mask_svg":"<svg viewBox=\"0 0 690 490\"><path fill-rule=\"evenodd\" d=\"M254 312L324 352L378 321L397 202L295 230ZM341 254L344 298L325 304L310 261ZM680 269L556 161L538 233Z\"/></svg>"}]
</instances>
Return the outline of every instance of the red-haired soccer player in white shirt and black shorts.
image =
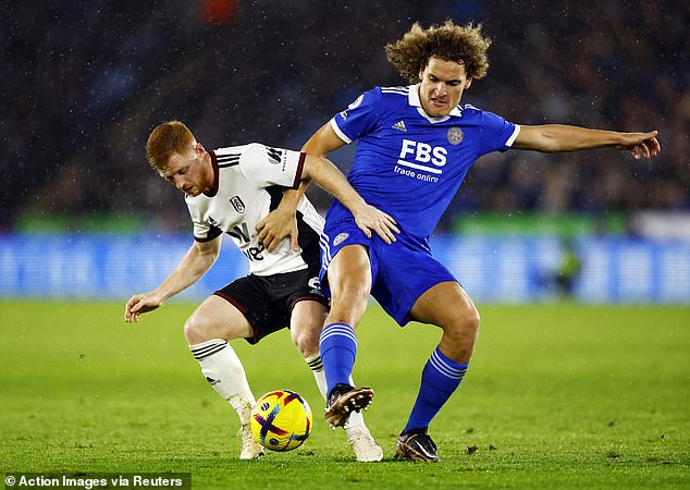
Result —
<instances>
[{"instance_id":1,"label":"red-haired soccer player in white shirt and black shorts","mask_svg":"<svg viewBox=\"0 0 690 490\"><path fill-rule=\"evenodd\" d=\"M158 308L198 281L218 258L222 235L232 237L249 260L250 273L207 298L187 319L184 333L207 381L237 412L242 424L239 457L260 457L263 448L249 428L255 397L229 342L244 338L256 344L288 327L325 397L319 335L328 310L318 280L323 219L311 203L303 197L297 207L298 247L285 240L269 253L258 238L261 221L278 207L285 189L313 181L348 206L364 233L374 231L390 243L398 230L387 215L367 205L323 158L257 143L207 151L178 121L156 127L146 152L153 169L185 193L195 242L156 290L132 296L125 306L125 321L138 321L140 314ZM358 461L382 458L383 452L362 417L350 417L346 431Z\"/></svg>"}]
</instances>

